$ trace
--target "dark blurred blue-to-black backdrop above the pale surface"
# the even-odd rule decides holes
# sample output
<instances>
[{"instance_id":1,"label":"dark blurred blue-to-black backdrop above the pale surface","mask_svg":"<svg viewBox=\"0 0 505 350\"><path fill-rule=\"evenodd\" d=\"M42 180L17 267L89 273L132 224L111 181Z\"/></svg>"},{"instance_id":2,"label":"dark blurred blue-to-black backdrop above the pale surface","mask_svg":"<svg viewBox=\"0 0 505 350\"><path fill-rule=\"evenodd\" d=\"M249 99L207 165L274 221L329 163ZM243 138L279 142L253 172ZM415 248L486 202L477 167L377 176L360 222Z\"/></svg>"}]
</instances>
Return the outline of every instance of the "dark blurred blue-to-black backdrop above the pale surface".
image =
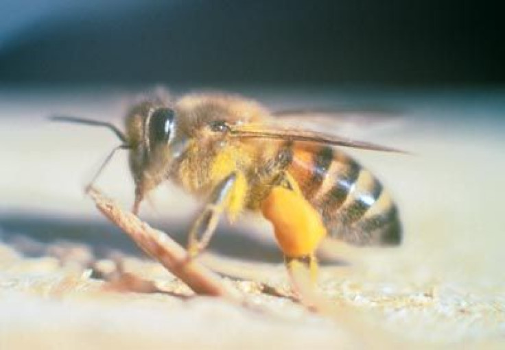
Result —
<instances>
[{"instance_id":1,"label":"dark blurred blue-to-black backdrop above the pale surface","mask_svg":"<svg viewBox=\"0 0 505 350\"><path fill-rule=\"evenodd\" d=\"M503 15L484 1L9 0L0 12L3 83L505 81Z\"/></svg>"}]
</instances>

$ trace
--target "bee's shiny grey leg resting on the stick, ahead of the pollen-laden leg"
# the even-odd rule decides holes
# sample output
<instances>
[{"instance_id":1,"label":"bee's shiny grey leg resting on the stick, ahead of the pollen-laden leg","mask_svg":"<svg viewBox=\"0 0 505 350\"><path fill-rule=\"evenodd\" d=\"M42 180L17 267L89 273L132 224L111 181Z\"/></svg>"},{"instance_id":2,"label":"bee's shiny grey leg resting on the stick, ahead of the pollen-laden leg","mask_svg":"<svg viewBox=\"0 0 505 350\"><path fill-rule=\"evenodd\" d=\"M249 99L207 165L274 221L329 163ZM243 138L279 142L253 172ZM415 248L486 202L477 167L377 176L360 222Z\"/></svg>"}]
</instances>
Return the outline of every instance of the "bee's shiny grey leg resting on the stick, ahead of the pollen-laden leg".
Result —
<instances>
[{"instance_id":1,"label":"bee's shiny grey leg resting on the stick, ahead of the pollen-laden leg","mask_svg":"<svg viewBox=\"0 0 505 350\"><path fill-rule=\"evenodd\" d=\"M228 205L236 179L237 173L232 173L222 180L215 188L211 200L205 205L202 213L191 227L187 242L187 250L191 258L201 253L209 245L212 235L218 227L220 216Z\"/></svg>"}]
</instances>

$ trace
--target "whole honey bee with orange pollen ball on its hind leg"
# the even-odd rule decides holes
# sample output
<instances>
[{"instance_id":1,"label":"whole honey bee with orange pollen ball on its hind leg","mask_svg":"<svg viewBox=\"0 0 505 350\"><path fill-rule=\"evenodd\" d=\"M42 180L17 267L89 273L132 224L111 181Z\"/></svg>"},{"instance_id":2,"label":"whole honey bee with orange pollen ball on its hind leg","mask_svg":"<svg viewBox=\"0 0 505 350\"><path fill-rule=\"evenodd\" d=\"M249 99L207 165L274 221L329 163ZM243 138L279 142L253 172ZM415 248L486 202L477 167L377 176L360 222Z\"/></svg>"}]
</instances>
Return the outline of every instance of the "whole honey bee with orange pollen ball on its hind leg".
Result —
<instances>
[{"instance_id":1,"label":"whole honey bee with orange pollen ball on its hind leg","mask_svg":"<svg viewBox=\"0 0 505 350\"><path fill-rule=\"evenodd\" d=\"M246 210L272 223L288 270L294 262L316 271L323 238L351 245L398 245L399 211L379 180L342 147L401 152L307 129L288 127L250 99L218 93L174 100L147 97L110 123L71 116L56 121L108 127L129 150L135 185L133 212L145 196L170 180L201 199L188 252L203 251L222 215Z\"/></svg>"}]
</instances>

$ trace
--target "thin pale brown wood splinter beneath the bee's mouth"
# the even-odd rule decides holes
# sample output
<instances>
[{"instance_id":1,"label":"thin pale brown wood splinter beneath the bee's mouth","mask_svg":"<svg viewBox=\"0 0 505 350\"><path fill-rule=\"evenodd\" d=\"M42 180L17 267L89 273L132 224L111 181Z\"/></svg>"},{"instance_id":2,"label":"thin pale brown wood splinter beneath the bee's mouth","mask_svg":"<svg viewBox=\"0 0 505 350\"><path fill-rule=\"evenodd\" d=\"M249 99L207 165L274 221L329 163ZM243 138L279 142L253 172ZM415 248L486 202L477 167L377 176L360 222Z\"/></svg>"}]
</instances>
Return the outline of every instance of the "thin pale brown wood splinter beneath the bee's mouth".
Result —
<instances>
[{"instance_id":1,"label":"thin pale brown wood splinter beneath the bee's mouth","mask_svg":"<svg viewBox=\"0 0 505 350\"><path fill-rule=\"evenodd\" d=\"M153 229L130 212L121 210L112 200L104 197L95 188L89 189L98 210L115 223L152 258L158 260L168 271L181 279L198 295L224 297L239 301L236 290L226 288L219 277L195 260L189 260L187 251L165 232Z\"/></svg>"}]
</instances>

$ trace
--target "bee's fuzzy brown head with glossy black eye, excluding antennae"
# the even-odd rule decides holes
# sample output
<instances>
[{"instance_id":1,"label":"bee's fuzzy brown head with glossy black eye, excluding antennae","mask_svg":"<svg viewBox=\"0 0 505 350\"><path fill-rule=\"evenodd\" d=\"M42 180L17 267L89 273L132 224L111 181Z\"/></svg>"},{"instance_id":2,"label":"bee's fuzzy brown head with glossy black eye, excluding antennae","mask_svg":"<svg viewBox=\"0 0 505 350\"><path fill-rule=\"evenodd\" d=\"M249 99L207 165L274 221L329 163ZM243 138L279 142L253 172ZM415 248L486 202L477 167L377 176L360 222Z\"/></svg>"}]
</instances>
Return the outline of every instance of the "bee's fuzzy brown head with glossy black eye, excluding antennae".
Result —
<instances>
[{"instance_id":1,"label":"bee's fuzzy brown head with glossy black eye, excluding antennae","mask_svg":"<svg viewBox=\"0 0 505 350\"><path fill-rule=\"evenodd\" d=\"M126 118L126 137L136 186L134 208L138 208L144 195L167 179L172 160L180 153L183 140L177 132L176 112L161 103L139 103Z\"/></svg>"}]
</instances>

